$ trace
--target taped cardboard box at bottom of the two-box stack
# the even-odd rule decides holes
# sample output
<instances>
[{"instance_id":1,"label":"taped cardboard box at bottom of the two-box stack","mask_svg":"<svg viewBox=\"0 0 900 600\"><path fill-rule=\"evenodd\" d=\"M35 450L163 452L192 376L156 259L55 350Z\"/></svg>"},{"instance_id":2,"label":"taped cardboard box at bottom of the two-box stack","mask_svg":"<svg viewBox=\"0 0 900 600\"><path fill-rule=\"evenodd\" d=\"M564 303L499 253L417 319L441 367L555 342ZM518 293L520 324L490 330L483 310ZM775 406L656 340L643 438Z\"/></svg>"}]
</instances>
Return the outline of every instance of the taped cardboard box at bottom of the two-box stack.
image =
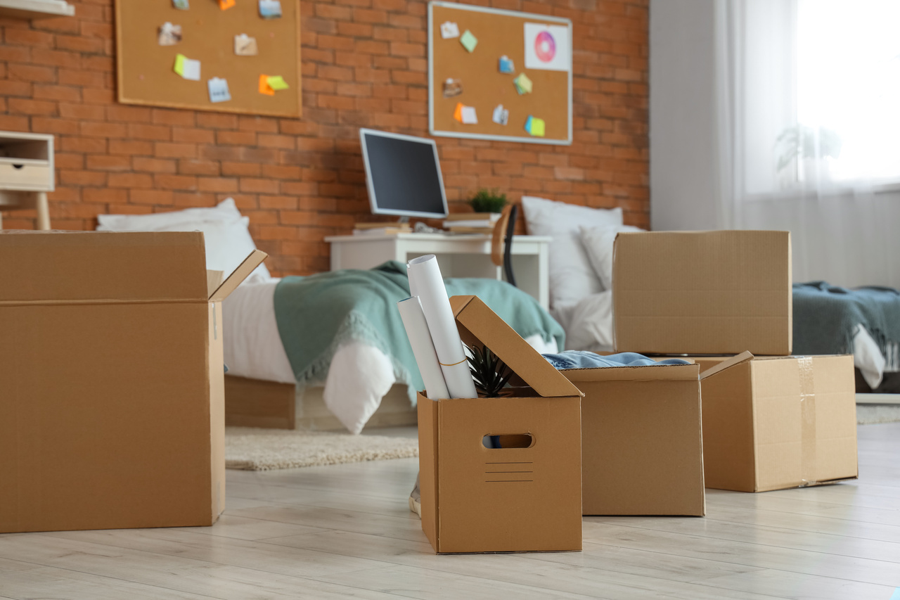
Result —
<instances>
[{"instance_id":1,"label":"taped cardboard box at bottom of the two-box stack","mask_svg":"<svg viewBox=\"0 0 900 600\"><path fill-rule=\"evenodd\" d=\"M851 355L743 352L700 380L707 487L765 492L857 477Z\"/></svg>"}]
</instances>

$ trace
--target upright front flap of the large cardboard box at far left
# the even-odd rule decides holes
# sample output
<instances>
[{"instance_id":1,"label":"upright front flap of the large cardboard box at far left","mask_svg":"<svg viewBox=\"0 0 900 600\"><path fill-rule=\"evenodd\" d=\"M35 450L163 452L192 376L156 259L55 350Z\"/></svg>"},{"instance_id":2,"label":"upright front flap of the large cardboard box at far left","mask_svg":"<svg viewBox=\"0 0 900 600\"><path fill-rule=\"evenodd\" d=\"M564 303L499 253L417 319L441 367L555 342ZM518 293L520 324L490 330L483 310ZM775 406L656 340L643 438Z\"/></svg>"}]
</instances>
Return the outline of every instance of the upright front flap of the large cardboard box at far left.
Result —
<instances>
[{"instance_id":1,"label":"upright front flap of the large cardboard box at far left","mask_svg":"<svg viewBox=\"0 0 900 600\"><path fill-rule=\"evenodd\" d=\"M205 302L202 232L0 232L0 303Z\"/></svg>"}]
</instances>

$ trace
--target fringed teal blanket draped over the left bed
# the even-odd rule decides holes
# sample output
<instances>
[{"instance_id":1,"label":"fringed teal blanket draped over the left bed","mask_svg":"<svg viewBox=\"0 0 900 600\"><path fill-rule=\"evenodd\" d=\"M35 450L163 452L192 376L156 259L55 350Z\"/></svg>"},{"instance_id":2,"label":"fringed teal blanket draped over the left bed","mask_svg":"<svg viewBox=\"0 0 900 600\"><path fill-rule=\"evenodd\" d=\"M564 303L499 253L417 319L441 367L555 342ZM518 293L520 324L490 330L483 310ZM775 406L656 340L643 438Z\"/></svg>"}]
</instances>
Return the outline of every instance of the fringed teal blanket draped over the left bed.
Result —
<instances>
[{"instance_id":1,"label":"fringed teal blanket draped over the left bed","mask_svg":"<svg viewBox=\"0 0 900 600\"><path fill-rule=\"evenodd\" d=\"M540 334L564 348L565 332L537 301L493 279L450 278L448 295L477 295L523 338ZM275 286L275 321L298 386L325 381L342 344L362 341L391 359L410 399L424 389L397 303L410 297L406 265L396 260L370 270L345 269L284 277Z\"/></svg>"}]
</instances>

